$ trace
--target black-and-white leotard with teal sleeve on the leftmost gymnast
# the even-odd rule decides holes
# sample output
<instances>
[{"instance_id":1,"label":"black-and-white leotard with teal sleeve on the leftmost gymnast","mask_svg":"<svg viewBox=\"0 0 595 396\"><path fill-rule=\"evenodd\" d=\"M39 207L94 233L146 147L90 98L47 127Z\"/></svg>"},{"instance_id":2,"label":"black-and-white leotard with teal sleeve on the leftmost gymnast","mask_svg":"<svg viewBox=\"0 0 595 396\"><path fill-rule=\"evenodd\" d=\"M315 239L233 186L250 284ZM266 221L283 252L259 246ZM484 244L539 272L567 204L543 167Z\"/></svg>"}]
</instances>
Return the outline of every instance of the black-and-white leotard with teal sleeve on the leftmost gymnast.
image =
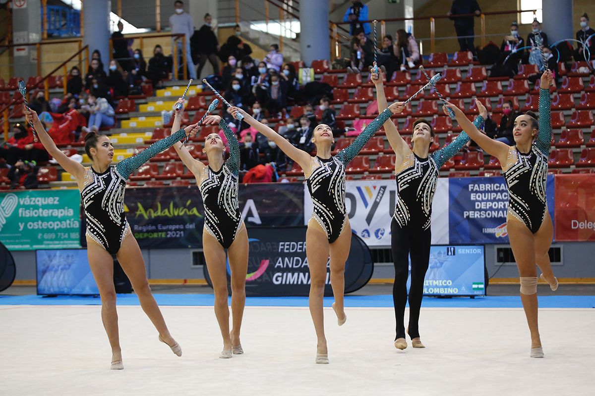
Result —
<instances>
[{"instance_id":1,"label":"black-and-white leotard with teal sleeve on the leftmost gymnast","mask_svg":"<svg viewBox=\"0 0 595 396\"><path fill-rule=\"evenodd\" d=\"M93 167L85 167L83 183L79 185L84 213L87 217L86 236L103 246L110 254L116 254L127 235L130 225L124 214L126 180L142 164L167 150L186 134L180 129L175 134L152 144L136 156L108 166L103 173Z\"/></svg>"}]
</instances>

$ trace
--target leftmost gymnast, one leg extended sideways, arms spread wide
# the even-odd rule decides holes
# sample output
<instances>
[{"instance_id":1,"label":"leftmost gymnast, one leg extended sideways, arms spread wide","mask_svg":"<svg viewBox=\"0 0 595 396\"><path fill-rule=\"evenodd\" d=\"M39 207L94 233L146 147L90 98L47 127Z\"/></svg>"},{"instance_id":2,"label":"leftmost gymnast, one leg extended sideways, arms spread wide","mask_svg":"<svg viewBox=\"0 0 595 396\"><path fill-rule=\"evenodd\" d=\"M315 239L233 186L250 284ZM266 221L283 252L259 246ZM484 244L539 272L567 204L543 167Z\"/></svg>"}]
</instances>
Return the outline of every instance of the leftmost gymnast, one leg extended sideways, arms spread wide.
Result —
<instances>
[{"instance_id":1,"label":"leftmost gymnast, one leg extended sideways, arms spread wide","mask_svg":"<svg viewBox=\"0 0 595 396\"><path fill-rule=\"evenodd\" d=\"M24 107L27 122L33 123L43 147L48 150L79 185L84 211L87 217L87 255L89 266L101 296L101 318L108 334L112 349L112 370L124 368L118 335L118 314L115 305L114 265L112 255L116 255L130 283L139 297L140 306L149 316L159 332L159 341L170 346L181 356L180 345L167 330L159 306L151 294L146 278L145 262L136 239L124 215L124 192L126 180L143 163L156 154L171 147L186 135L196 134L196 124L180 129L175 134L159 140L133 157L112 166L114 146L109 137L90 132L85 137L84 149L92 161L89 167L69 159L58 150L48 132L45 131L37 113Z\"/></svg>"}]
</instances>

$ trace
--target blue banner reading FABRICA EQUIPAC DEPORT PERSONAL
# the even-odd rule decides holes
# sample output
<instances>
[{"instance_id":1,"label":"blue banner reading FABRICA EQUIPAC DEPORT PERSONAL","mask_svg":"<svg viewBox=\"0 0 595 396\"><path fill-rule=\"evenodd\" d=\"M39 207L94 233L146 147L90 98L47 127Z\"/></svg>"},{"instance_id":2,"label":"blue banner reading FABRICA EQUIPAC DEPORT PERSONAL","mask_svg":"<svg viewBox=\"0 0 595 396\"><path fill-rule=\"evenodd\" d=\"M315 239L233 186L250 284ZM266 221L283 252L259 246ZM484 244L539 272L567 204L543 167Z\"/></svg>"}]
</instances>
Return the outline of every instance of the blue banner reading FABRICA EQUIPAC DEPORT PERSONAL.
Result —
<instances>
[{"instance_id":1,"label":"blue banner reading FABRICA EQUIPAC DEPORT PERSONAL","mask_svg":"<svg viewBox=\"0 0 595 396\"><path fill-rule=\"evenodd\" d=\"M546 196L552 211L553 175L547 175ZM507 211L503 177L449 179L449 243L508 243Z\"/></svg>"}]
</instances>

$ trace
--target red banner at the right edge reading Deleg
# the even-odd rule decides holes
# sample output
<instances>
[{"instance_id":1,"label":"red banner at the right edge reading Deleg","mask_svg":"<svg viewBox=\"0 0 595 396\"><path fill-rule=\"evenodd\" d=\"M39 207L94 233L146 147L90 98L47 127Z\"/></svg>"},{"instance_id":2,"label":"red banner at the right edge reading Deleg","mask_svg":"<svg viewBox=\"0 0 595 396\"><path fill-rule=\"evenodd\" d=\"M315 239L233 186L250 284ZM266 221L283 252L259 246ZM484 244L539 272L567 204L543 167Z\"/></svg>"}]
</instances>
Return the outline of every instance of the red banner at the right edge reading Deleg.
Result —
<instances>
[{"instance_id":1,"label":"red banner at the right edge reading Deleg","mask_svg":"<svg viewBox=\"0 0 595 396\"><path fill-rule=\"evenodd\" d=\"M595 175L560 176L556 175L555 239L595 240Z\"/></svg>"}]
</instances>

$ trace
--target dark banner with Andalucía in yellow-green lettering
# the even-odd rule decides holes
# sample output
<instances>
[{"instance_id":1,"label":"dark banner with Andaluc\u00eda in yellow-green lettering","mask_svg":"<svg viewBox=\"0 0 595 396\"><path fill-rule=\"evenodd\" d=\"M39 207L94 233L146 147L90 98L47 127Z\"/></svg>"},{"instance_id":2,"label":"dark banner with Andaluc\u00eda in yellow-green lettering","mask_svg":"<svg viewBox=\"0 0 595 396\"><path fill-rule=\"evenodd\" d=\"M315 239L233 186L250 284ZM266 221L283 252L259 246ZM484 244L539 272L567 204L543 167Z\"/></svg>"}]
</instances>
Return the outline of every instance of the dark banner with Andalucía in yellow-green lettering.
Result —
<instances>
[{"instance_id":1,"label":"dark banner with Andaluc\u00eda in yellow-green lettering","mask_svg":"<svg viewBox=\"0 0 595 396\"><path fill-rule=\"evenodd\" d=\"M196 186L129 188L126 217L141 248L202 248L205 210ZM303 224L302 183L250 184L239 189L246 227Z\"/></svg>"}]
</instances>

